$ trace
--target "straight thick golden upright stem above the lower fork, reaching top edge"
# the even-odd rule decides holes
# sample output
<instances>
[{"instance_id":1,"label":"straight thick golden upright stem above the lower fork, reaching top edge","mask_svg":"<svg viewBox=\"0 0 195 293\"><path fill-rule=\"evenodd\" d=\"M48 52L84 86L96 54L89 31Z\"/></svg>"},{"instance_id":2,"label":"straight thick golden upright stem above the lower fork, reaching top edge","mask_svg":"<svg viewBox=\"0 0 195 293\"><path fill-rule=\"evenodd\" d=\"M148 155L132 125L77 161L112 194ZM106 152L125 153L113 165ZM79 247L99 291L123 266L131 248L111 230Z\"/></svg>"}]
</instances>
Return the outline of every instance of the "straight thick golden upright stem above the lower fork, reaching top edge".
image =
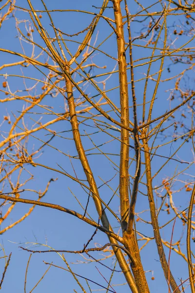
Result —
<instances>
[{"instance_id":1,"label":"straight thick golden upright stem above the lower fork, reaching top edge","mask_svg":"<svg viewBox=\"0 0 195 293\"><path fill-rule=\"evenodd\" d=\"M118 72L120 88L120 123L129 126L129 97L127 64L120 1L113 1L117 30ZM126 230L129 211L129 131L121 127L120 171L119 171L120 216L122 230Z\"/></svg>"}]
</instances>

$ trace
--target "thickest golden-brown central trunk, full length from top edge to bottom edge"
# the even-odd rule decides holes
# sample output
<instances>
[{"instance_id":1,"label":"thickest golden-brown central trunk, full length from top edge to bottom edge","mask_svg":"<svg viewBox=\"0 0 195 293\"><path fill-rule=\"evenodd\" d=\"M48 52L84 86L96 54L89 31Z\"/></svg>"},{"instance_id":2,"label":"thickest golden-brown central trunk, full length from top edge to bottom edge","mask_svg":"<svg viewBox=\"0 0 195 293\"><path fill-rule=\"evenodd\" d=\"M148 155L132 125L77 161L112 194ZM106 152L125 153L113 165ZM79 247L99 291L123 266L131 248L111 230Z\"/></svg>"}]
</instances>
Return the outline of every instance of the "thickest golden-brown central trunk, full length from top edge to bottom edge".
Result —
<instances>
[{"instance_id":1,"label":"thickest golden-brown central trunk, full length from top edge to bottom edge","mask_svg":"<svg viewBox=\"0 0 195 293\"><path fill-rule=\"evenodd\" d=\"M122 13L120 9L119 0L112 0L115 22L117 29L117 50L118 50L118 70L119 70L119 87L120 87L120 107L121 107L121 146L120 146L120 214L121 214L121 227L123 230L123 238L125 240L125 248L130 251L133 263L131 263L131 268L134 274L138 292L149 293L148 284L145 277L145 272L142 267L139 249L137 245L137 239L135 233L132 229L131 234L127 233L127 223L128 223L128 213L129 213L129 99L128 99L128 85L127 85L127 68L126 68L126 56L125 56L125 39L123 31L123 21ZM132 59L131 59L132 62ZM133 78L133 64L131 64L131 73ZM134 129L137 131L137 117L136 117L136 98L134 84L132 85L132 94L134 101ZM135 132L135 140L137 147L137 132ZM137 148L138 152L138 148ZM138 157L137 157L138 160ZM139 166L139 163L138 163ZM139 168L140 169L140 168ZM139 174L139 173L138 173ZM136 181L138 183L138 181ZM135 187L137 190L137 187ZM135 193L134 193L135 195ZM134 199L136 197L134 196ZM133 207L135 203L133 202ZM133 211L134 213L134 211ZM131 213L131 214L133 214Z\"/></svg>"}]
</instances>

